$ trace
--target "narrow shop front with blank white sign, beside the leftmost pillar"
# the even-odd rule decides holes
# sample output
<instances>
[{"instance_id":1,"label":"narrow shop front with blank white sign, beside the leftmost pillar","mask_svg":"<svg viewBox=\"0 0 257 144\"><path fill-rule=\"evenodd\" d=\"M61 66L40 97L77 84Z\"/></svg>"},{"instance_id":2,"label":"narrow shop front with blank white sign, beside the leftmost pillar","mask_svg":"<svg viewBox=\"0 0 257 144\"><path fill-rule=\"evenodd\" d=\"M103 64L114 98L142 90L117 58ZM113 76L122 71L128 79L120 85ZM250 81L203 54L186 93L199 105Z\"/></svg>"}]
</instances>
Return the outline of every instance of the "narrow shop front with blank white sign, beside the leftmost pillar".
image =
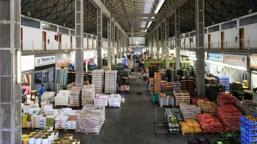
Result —
<instances>
[{"instance_id":1,"label":"narrow shop front with blank white sign, beside the leftmost pillar","mask_svg":"<svg viewBox=\"0 0 257 144\"><path fill-rule=\"evenodd\" d=\"M32 72L34 69L34 55L21 57L21 92L30 94L32 88Z\"/></svg>"}]
</instances>

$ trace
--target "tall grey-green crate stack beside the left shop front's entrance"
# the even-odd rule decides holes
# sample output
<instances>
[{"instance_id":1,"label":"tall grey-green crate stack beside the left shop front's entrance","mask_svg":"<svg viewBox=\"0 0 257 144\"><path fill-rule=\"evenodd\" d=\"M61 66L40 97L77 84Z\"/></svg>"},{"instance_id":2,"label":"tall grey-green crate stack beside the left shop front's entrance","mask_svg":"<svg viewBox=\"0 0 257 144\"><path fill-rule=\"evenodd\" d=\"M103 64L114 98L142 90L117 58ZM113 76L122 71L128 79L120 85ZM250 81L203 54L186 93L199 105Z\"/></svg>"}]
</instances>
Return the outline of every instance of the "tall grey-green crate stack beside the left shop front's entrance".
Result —
<instances>
[{"instance_id":1,"label":"tall grey-green crate stack beside the left shop front's entrance","mask_svg":"<svg viewBox=\"0 0 257 144\"><path fill-rule=\"evenodd\" d=\"M68 70L66 69L58 69L55 70L54 81L59 83L59 87L61 90L66 89L68 80Z\"/></svg>"}]
</instances>

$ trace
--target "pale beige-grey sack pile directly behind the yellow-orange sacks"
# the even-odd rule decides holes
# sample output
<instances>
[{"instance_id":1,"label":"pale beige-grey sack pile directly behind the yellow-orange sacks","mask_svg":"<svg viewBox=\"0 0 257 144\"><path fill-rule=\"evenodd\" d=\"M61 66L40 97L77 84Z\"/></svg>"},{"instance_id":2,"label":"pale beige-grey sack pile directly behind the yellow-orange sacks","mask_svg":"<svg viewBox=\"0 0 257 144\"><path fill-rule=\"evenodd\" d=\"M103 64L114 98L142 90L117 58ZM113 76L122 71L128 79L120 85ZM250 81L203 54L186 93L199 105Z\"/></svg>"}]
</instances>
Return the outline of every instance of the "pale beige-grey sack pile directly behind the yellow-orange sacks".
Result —
<instances>
[{"instance_id":1,"label":"pale beige-grey sack pile directly behind the yellow-orange sacks","mask_svg":"<svg viewBox=\"0 0 257 144\"><path fill-rule=\"evenodd\" d=\"M181 103L179 105L183 118L197 119L197 114L201 113L200 107Z\"/></svg>"}]
</instances>

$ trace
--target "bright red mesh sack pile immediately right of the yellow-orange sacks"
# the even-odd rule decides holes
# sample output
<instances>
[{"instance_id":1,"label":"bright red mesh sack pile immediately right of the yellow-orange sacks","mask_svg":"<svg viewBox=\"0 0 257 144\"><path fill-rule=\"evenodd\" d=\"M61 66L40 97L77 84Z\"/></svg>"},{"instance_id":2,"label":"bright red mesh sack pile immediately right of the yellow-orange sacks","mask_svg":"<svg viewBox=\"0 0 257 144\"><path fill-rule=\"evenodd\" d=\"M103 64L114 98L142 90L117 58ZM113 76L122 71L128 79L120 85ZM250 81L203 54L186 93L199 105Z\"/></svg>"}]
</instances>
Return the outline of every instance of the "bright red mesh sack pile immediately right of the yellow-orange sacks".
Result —
<instances>
[{"instance_id":1,"label":"bright red mesh sack pile immediately right of the yellow-orange sacks","mask_svg":"<svg viewBox=\"0 0 257 144\"><path fill-rule=\"evenodd\" d=\"M223 125L217 117L209 113L203 113L197 115L197 120L201 125L203 132L222 132Z\"/></svg>"}]
</instances>

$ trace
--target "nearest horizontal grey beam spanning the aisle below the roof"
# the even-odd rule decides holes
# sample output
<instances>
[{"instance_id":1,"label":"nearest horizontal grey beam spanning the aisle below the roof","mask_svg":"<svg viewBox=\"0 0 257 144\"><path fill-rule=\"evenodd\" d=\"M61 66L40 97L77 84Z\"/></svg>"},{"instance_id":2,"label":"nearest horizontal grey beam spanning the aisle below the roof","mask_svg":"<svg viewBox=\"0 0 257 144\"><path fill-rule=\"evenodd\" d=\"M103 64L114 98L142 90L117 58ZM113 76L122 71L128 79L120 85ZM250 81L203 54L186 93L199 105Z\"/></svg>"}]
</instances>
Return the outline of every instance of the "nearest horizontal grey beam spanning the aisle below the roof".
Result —
<instances>
[{"instance_id":1,"label":"nearest horizontal grey beam spanning the aisle below the roof","mask_svg":"<svg viewBox=\"0 0 257 144\"><path fill-rule=\"evenodd\" d=\"M111 14L111 18L164 17L164 14Z\"/></svg>"}]
</instances>

